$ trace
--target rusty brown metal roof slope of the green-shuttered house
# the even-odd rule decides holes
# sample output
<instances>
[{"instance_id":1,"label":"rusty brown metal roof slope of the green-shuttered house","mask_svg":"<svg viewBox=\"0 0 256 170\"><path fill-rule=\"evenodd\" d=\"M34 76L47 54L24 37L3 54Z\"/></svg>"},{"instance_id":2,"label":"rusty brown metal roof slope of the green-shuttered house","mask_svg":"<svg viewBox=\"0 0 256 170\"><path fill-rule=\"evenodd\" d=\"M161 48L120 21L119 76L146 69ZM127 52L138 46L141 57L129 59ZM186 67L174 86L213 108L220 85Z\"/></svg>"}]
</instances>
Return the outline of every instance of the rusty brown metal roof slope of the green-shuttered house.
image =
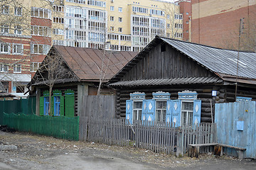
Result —
<instances>
[{"instance_id":1,"label":"rusty brown metal roof slope of the green-shuttered house","mask_svg":"<svg viewBox=\"0 0 256 170\"><path fill-rule=\"evenodd\" d=\"M102 61L104 69L108 65L105 80L111 79L114 74L119 72L130 60L132 60L138 52L112 51L85 48L85 47L65 47L60 45L53 46L55 50L67 62L68 67L81 80L99 80Z\"/></svg>"}]
</instances>

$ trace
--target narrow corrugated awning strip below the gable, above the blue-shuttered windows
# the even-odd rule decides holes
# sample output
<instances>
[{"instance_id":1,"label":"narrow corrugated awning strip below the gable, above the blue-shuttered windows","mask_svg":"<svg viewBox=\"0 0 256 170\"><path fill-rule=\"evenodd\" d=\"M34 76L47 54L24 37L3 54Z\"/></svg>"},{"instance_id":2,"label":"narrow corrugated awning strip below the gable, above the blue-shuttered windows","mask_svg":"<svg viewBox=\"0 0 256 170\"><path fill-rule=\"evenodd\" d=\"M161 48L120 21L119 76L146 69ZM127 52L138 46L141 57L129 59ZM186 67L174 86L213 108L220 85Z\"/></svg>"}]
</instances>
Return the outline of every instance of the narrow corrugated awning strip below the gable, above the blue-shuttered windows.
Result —
<instances>
[{"instance_id":1,"label":"narrow corrugated awning strip below the gable, above the blue-shuttered windows","mask_svg":"<svg viewBox=\"0 0 256 170\"><path fill-rule=\"evenodd\" d=\"M174 84L211 84L221 83L222 79L218 77L186 77L174 79L139 79L132 81L117 81L110 86L158 86Z\"/></svg>"}]
</instances>

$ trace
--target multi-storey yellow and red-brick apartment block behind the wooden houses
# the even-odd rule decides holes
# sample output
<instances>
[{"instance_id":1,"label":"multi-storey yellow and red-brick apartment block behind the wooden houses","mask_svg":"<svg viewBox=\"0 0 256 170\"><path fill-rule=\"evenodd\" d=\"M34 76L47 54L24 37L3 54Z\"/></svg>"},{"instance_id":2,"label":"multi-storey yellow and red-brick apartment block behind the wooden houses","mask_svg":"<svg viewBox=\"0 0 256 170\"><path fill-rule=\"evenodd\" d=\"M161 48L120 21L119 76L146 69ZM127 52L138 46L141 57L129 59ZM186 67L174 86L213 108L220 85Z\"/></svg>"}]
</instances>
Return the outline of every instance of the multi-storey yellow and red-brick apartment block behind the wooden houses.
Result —
<instances>
[{"instance_id":1,"label":"multi-storey yellow and red-brick apartment block behind the wooden houses","mask_svg":"<svg viewBox=\"0 0 256 170\"><path fill-rule=\"evenodd\" d=\"M51 45L140 51L155 35L183 39L178 4L159 0L1 1L0 81L23 94Z\"/></svg>"}]
</instances>

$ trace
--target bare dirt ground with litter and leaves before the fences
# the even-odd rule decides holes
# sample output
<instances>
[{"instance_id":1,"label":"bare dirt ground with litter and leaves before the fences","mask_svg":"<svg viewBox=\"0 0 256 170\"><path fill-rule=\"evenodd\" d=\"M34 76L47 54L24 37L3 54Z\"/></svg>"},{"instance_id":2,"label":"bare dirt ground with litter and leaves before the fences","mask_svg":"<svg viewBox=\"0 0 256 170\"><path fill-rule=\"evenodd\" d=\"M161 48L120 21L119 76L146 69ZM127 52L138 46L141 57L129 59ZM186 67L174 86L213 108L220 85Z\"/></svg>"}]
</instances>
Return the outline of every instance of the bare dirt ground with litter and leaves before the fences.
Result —
<instances>
[{"instance_id":1,"label":"bare dirt ground with litter and leaves before the fences","mask_svg":"<svg viewBox=\"0 0 256 170\"><path fill-rule=\"evenodd\" d=\"M156 154L146 149L94 142L74 142L0 131L0 145L18 149L0 151L0 169L256 169L256 161L201 155L200 159Z\"/></svg>"}]
</instances>

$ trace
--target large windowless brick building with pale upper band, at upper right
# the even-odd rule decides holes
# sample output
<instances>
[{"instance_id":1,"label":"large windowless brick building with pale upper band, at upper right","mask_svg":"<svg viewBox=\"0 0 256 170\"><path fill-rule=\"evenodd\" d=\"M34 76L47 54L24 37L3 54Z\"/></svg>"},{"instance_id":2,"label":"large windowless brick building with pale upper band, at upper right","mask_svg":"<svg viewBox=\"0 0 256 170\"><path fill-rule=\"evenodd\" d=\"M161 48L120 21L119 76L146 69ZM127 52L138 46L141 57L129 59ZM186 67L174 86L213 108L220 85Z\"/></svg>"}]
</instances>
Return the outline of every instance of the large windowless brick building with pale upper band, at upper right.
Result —
<instances>
[{"instance_id":1,"label":"large windowless brick building with pale upper band, at upper right","mask_svg":"<svg viewBox=\"0 0 256 170\"><path fill-rule=\"evenodd\" d=\"M214 47L237 48L240 18L249 35L256 16L255 0L192 0L192 42Z\"/></svg>"}]
</instances>

